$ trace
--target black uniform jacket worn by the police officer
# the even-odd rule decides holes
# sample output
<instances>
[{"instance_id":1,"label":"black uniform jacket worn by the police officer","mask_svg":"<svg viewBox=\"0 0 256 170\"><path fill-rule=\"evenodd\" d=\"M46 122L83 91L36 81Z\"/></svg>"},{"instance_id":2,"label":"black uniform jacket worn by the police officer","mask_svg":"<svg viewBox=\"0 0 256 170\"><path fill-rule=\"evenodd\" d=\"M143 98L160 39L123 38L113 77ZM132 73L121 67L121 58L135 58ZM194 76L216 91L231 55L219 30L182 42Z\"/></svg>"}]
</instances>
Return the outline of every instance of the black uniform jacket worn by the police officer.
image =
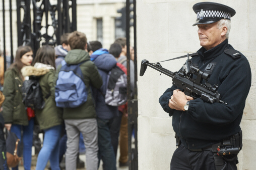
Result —
<instances>
[{"instance_id":1,"label":"black uniform jacket worn by the police officer","mask_svg":"<svg viewBox=\"0 0 256 170\"><path fill-rule=\"evenodd\" d=\"M208 51L202 47L191 61L202 71L206 71L206 67L211 63L215 65L208 82L211 85L218 84L217 91L227 105L208 103L199 98L189 102L187 111L171 109L168 103L173 90L178 89L175 85L168 88L159 98L164 111L172 116L173 129L186 148L207 147L241 129L239 124L251 85L251 71L244 55L239 51L228 55L224 52L225 49L234 50L227 39ZM234 55L241 57L234 59Z\"/></svg>"}]
</instances>

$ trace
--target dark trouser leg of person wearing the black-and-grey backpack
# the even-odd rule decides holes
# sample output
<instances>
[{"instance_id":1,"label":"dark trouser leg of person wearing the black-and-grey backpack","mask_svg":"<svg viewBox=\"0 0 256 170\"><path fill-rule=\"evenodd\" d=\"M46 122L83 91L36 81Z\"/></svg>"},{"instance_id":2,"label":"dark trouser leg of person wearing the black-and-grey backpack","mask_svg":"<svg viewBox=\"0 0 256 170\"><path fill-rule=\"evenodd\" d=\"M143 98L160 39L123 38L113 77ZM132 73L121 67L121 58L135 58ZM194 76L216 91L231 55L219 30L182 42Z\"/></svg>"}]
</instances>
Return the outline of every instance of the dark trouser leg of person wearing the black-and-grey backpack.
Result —
<instances>
[{"instance_id":1,"label":"dark trouser leg of person wearing the black-and-grey backpack","mask_svg":"<svg viewBox=\"0 0 256 170\"><path fill-rule=\"evenodd\" d=\"M122 112L119 111L120 116L115 116L110 119L110 136L111 136L111 143L114 149L115 157L117 154L117 147L118 147L118 137L120 131L120 125L122 120Z\"/></svg>"}]
</instances>

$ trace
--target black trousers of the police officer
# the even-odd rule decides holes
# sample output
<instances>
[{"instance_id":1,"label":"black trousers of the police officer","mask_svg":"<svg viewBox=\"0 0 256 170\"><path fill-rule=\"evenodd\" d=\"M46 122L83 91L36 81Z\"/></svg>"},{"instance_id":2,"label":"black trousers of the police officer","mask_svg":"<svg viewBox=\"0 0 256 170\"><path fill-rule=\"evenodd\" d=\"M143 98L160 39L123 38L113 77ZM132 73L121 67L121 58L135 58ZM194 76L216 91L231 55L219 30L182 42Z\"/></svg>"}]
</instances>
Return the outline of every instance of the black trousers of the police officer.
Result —
<instances>
[{"instance_id":1,"label":"black trousers of the police officer","mask_svg":"<svg viewBox=\"0 0 256 170\"><path fill-rule=\"evenodd\" d=\"M237 157L226 161L225 170L237 170ZM173 153L171 170L215 170L212 151L191 151L181 144Z\"/></svg>"}]
</instances>

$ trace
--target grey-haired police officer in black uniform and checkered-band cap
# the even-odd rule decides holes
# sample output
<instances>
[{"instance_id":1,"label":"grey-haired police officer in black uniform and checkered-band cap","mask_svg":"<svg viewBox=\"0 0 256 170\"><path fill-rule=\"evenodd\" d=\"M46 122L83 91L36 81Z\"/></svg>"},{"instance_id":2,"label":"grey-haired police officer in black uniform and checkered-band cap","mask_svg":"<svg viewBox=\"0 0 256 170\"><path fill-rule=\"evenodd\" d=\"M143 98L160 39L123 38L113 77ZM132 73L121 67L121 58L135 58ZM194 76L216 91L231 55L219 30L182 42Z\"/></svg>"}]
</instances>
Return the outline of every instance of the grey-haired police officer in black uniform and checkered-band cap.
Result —
<instances>
[{"instance_id":1,"label":"grey-haired police officer in black uniform and checkered-band cap","mask_svg":"<svg viewBox=\"0 0 256 170\"><path fill-rule=\"evenodd\" d=\"M237 169L242 147L239 126L251 85L246 57L228 44L232 8L211 2L193 6L201 49L191 61L211 74L208 82L218 84L225 103L208 103L186 96L177 86L168 88L159 102L172 116L179 147L173 153L171 170ZM194 75L195 78L195 75Z\"/></svg>"}]
</instances>

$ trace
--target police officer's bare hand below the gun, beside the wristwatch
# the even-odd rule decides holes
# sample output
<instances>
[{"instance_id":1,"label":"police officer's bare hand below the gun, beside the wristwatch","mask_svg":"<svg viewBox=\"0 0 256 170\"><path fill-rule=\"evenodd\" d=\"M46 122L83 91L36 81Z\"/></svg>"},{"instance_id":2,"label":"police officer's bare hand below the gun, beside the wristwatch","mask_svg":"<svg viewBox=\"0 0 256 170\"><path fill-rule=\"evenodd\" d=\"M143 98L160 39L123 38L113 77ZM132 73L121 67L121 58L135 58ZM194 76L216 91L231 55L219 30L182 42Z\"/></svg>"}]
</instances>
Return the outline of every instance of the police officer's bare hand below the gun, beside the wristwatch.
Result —
<instances>
[{"instance_id":1,"label":"police officer's bare hand below the gun, beside the wristwatch","mask_svg":"<svg viewBox=\"0 0 256 170\"><path fill-rule=\"evenodd\" d=\"M191 99L189 96L186 96L183 92L180 90L173 90L173 95L171 96L171 99L169 100L168 106L171 109L175 110L184 110L184 105L187 102L187 98ZM193 98L192 98L193 99Z\"/></svg>"}]
</instances>

